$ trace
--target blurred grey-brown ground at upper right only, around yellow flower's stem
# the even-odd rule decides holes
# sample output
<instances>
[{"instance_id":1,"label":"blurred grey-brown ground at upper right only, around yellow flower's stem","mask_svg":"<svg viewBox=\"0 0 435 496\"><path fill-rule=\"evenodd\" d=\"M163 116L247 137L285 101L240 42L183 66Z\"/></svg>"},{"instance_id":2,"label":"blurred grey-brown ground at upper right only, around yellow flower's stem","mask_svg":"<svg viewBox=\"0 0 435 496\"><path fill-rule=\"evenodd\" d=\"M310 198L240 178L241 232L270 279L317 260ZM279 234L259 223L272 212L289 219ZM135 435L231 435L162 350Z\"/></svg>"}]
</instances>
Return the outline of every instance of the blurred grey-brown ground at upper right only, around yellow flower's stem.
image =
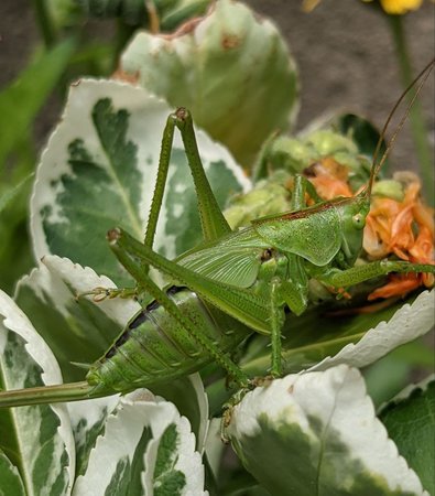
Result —
<instances>
[{"instance_id":1,"label":"blurred grey-brown ground at upper right only, around yellow flower's stem","mask_svg":"<svg viewBox=\"0 0 435 496\"><path fill-rule=\"evenodd\" d=\"M402 89L394 47L384 15L359 0L323 0L309 14L298 1L251 0L284 33L301 73L298 126L322 112L342 108L361 114L381 128ZM435 6L404 15L415 73L435 53ZM434 141L434 74L422 95ZM417 166L409 129L393 152L400 169Z\"/></svg>"}]
</instances>

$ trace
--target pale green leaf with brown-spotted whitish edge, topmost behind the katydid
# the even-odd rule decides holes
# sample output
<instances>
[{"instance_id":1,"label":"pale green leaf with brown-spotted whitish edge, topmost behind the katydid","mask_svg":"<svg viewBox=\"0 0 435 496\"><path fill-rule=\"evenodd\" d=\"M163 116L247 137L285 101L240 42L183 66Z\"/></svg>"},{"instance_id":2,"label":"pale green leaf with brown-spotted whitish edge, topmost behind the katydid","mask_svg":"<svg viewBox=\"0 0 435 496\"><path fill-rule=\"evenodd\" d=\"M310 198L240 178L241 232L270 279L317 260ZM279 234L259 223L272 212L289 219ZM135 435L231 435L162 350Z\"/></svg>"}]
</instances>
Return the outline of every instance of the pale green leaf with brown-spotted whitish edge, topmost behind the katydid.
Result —
<instances>
[{"instance_id":1,"label":"pale green leaf with brown-spotted whitish edge, topmost behind the katydid","mask_svg":"<svg viewBox=\"0 0 435 496\"><path fill-rule=\"evenodd\" d=\"M295 63L283 37L241 2L220 0L172 35L138 33L120 68L171 105L189 108L248 169L297 109Z\"/></svg>"}]
</instances>

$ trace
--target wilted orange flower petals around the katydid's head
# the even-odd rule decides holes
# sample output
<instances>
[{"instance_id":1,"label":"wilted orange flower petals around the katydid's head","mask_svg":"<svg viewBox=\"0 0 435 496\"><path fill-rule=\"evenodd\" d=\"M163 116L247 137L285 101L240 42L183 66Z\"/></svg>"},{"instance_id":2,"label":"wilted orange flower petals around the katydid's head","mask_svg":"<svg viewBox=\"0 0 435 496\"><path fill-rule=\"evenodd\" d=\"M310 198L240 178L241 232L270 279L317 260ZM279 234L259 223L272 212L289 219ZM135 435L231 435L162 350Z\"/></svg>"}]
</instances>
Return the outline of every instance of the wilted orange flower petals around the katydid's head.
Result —
<instances>
[{"instance_id":1,"label":"wilted orange flower petals around the katydid's head","mask_svg":"<svg viewBox=\"0 0 435 496\"><path fill-rule=\"evenodd\" d=\"M333 158L325 158L305 170L323 200L352 196L348 169ZM366 219L363 249L371 260L396 257L413 263L434 262L434 211L420 198L421 183L411 172L396 173L403 184L402 201L373 196ZM390 274L389 282L369 294L368 300L403 296L414 289L434 285L429 273Z\"/></svg>"}]
</instances>

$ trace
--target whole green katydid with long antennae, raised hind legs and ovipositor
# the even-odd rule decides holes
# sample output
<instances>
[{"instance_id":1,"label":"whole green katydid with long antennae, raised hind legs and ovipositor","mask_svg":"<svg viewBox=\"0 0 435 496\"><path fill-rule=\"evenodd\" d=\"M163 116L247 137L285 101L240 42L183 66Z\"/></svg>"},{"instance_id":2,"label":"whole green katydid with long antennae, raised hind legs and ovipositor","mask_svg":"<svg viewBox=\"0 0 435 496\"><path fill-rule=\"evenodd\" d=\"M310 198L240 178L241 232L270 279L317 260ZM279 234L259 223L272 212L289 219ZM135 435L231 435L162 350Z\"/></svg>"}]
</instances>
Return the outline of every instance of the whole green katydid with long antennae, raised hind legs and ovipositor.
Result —
<instances>
[{"instance_id":1,"label":"whole green katydid with long antennae, raised hind legs and ovipositor","mask_svg":"<svg viewBox=\"0 0 435 496\"><path fill-rule=\"evenodd\" d=\"M420 74L413 99L434 66ZM412 89L402 95L399 103ZM255 219L231 231L204 173L192 117L180 108L167 119L162 140L159 174L144 242L122 229L108 233L110 247L137 281L137 291L152 302L143 308L109 351L90 365L86 381L0 392L0 407L74 401L152 387L199 370L216 362L242 388L252 382L229 354L252 332L271 338L273 377L282 374L281 328L285 309L296 315L309 304L308 281L336 289L348 288L390 272L435 273L433 265L382 260L356 266L362 247L371 190L395 137L412 106L398 126L387 151L374 153L367 187L350 198L318 202L307 207L305 191L313 186L296 176L292 209ZM175 128L181 131L197 192L204 241L167 260L152 249L162 205ZM317 198L318 200L318 198ZM149 267L176 281L160 289ZM97 290L98 293L99 290ZM115 296L122 290L107 290Z\"/></svg>"}]
</instances>

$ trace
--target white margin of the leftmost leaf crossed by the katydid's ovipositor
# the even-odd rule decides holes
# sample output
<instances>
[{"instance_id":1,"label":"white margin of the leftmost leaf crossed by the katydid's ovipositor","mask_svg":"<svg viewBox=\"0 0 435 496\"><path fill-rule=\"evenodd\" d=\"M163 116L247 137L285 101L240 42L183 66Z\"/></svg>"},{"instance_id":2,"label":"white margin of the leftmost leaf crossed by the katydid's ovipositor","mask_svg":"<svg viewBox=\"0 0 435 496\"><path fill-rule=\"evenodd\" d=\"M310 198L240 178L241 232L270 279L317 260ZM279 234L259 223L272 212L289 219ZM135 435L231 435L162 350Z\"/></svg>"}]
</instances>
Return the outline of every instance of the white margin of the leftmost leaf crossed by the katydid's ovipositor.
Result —
<instances>
[{"instance_id":1,"label":"white margin of the leftmost leaf crossed by the katydid's ovipositor","mask_svg":"<svg viewBox=\"0 0 435 496\"><path fill-rule=\"evenodd\" d=\"M41 378L45 385L56 385L62 382L61 369L56 358L48 348L44 339L36 333L28 316L14 303L14 301L0 290L0 315L3 316L3 326L25 339L25 349L29 355L42 367ZM1 328L1 327L0 327ZM6 345L6 334L0 333L0 355ZM6 384L8 387L8 385ZM54 413L59 419L57 432L65 443L69 464L67 466L69 484L67 494L70 494L75 476L75 444L68 411L65 405L51 406ZM13 414L18 414L17 412ZM18 435L20 433L18 432Z\"/></svg>"}]
</instances>

